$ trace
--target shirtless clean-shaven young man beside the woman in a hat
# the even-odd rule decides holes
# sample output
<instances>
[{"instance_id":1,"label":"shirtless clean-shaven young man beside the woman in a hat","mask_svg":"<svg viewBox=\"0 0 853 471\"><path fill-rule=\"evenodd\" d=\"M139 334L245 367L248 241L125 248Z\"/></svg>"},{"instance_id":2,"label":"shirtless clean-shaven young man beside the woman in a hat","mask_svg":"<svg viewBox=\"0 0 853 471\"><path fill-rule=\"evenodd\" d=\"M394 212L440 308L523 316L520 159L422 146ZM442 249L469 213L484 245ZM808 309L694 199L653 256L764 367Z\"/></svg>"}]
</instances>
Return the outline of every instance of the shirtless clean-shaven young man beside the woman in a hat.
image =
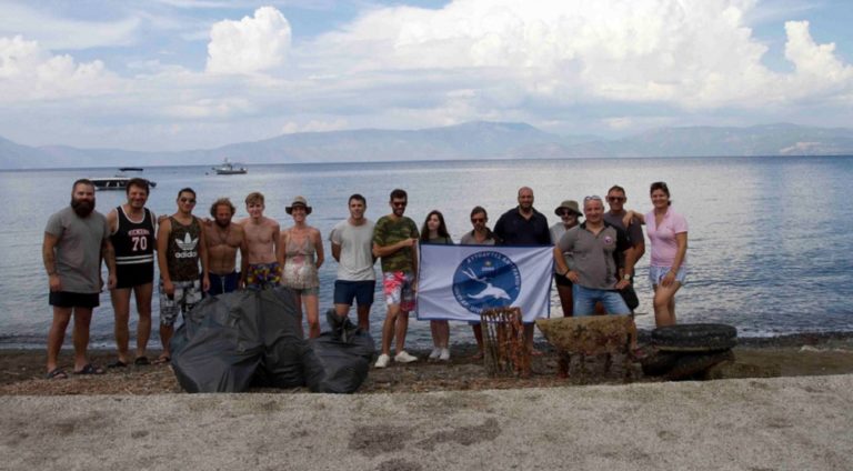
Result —
<instances>
[{"instance_id":1,"label":"shirtless clean-shaven young man beside the woman in a hat","mask_svg":"<svg viewBox=\"0 0 853 471\"><path fill-rule=\"evenodd\" d=\"M257 191L249 193L245 197L245 210L249 217L238 222L245 233L244 260L248 267L244 270L243 280L245 288L253 290L275 287L281 282L281 265L275 259L281 227L263 216L264 208L263 194Z\"/></svg>"}]
</instances>

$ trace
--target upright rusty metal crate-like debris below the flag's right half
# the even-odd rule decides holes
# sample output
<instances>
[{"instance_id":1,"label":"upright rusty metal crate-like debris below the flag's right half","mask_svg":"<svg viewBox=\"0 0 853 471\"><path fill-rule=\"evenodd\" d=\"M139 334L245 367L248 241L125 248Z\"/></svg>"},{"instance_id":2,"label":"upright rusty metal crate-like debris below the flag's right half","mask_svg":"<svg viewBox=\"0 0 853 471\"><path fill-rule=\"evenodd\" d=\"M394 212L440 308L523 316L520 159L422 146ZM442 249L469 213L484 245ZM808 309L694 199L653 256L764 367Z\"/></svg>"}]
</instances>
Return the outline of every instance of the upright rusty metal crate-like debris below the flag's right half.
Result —
<instances>
[{"instance_id":1,"label":"upright rusty metal crate-like debris below the flag's right half","mask_svg":"<svg viewBox=\"0 0 853 471\"><path fill-rule=\"evenodd\" d=\"M483 360L492 377L530 375L530 351L524 343L521 309L495 308L480 313L483 329Z\"/></svg>"}]
</instances>

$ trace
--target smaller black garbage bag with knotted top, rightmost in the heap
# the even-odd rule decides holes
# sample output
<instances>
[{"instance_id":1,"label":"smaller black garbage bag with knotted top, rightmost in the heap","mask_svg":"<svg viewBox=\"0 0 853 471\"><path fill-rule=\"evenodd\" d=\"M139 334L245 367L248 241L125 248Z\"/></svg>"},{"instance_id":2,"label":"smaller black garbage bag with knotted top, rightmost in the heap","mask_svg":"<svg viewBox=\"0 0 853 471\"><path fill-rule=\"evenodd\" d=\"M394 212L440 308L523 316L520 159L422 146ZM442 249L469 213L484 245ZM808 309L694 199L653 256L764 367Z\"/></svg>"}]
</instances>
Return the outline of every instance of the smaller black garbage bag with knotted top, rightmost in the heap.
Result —
<instances>
[{"instance_id":1,"label":"smaller black garbage bag with knotted top, rightmost in the heap","mask_svg":"<svg viewBox=\"0 0 853 471\"><path fill-rule=\"evenodd\" d=\"M307 378L308 387L313 392L354 392L368 378L373 338L348 318L339 318L334 309L327 312L327 319L332 330L309 340L322 374Z\"/></svg>"}]
</instances>

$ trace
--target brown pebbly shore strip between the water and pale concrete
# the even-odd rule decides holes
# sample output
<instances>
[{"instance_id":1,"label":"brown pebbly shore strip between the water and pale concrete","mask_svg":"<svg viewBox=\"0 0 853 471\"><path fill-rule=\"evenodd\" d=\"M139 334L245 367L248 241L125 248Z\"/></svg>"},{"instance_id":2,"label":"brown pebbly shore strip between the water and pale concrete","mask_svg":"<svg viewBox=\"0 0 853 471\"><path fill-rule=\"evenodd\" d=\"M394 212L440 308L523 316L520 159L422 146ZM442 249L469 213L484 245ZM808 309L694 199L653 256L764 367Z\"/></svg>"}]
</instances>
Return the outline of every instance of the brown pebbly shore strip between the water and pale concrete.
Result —
<instances>
[{"instance_id":1,"label":"brown pebbly shore strip between the water and pale concrete","mask_svg":"<svg viewBox=\"0 0 853 471\"><path fill-rule=\"evenodd\" d=\"M641 344L648 332L641 332ZM430 391L481 391L528 388L558 388L593 384L661 383L659 378L645 377L638 363L615 358L605 371L602 358L588 358L583 368L575 362L570 378L556 377L558 358L554 349L538 342L543 355L534 357L530 378L493 378L486 374L482 361L472 355L472 343L452 345L449 362L428 362L429 350L410 352L421 358L410 364L392 363L389 368L371 368L355 394L408 393ZM709 378L783 378L853 374L853 332L826 332L783 335L777 338L739 339L734 361L714 367ZM159 351L150 350L149 358ZM113 349L90 350L90 358L100 365L116 359ZM44 379L44 349L0 349L0 395L78 395L78 394L181 394L174 373L168 365L108 369L103 375L71 374L73 358L63 350L60 365L69 372L67 380ZM307 388L288 390L253 388L249 392L307 393Z\"/></svg>"}]
</instances>

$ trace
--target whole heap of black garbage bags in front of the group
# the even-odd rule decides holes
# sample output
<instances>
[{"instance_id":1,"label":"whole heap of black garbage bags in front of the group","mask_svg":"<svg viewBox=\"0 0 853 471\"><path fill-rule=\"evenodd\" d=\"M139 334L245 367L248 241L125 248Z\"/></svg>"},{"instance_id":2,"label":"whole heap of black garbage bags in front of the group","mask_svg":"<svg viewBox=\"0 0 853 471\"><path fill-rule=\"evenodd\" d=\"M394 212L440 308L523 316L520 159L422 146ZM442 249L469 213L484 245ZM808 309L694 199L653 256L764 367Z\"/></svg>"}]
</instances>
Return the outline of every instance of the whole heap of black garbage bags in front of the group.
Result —
<instances>
[{"instance_id":1,"label":"whole heap of black garbage bags in front of the group","mask_svg":"<svg viewBox=\"0 0 853 471\"><path fill-rule=\"evenodd\" d=\"M355 391L373 354L370 335L353 335L347 324L349 335L338 329L324 334L328 340L309 343L297 313L285 288L205 298L170 343L178 382L188 392L302 385L317 392Z\"/></svg>"}]
</instances>

